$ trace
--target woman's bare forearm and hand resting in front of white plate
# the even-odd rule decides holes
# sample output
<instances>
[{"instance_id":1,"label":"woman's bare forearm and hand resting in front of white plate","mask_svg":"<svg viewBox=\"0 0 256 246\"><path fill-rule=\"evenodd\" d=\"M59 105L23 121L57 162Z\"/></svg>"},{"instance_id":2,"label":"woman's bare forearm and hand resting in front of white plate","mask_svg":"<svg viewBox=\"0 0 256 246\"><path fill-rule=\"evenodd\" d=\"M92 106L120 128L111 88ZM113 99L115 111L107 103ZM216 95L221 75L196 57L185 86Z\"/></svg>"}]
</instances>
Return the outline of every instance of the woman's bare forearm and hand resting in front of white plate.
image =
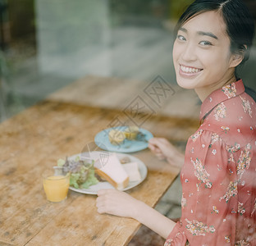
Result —
<instances>
[{"instance_id":1,"label":"woman's bare forearm and hand resting in front of white plate","mask_svg":"<svg viewBox=\"0 0 256 246\"><path fill-rule=\"evenodd\" d=\"M171 233L176 223L147 204L131 197L125 192L115 189L98 191L96 201L99 213L109 213L116 216L134 218L164 239Z\"/></svg>"}]
</instances>

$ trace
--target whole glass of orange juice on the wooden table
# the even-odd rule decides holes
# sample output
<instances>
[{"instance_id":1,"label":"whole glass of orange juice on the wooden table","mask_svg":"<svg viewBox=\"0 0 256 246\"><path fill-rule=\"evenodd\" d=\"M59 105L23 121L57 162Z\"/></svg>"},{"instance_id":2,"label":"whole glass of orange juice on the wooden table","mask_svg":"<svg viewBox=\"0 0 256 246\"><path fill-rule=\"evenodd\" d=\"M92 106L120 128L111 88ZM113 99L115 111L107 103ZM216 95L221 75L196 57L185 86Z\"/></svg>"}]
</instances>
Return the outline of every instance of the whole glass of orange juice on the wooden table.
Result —
<instances>
[{"instance_id":1,"label":"whole glass of orange juice on the wooden table","mask_svg":"<svg viewBox=\"0 0 256 246\"><path fill-rule=\"evenodd\" d=\"M62 170L48 170L43 173L43 189L48 201L60 203L66 199L70 184L69 173L62 174Z\"/></svg>"}]
</instances>

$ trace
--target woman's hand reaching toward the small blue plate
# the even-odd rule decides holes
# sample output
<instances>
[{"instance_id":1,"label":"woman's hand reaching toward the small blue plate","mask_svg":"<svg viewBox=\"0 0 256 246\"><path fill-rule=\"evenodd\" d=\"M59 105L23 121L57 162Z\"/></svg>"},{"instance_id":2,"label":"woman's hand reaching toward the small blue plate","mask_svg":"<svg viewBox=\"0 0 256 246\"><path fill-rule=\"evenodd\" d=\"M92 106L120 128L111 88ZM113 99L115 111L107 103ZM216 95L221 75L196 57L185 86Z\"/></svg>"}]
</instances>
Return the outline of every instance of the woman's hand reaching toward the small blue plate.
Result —
<instances>
[{"instance_id":1,"label":"woman's hand reaching toward the small blue plate","mask_svg":"<svg viewBox=\"0 0 256 246\"><path fill-rule=\"evenodd\" d=\"M173 166L183 166L184 154L178 151L167 139L149 139L149 149L160 160L167 160Z\"/></svg>"}]
</instances>

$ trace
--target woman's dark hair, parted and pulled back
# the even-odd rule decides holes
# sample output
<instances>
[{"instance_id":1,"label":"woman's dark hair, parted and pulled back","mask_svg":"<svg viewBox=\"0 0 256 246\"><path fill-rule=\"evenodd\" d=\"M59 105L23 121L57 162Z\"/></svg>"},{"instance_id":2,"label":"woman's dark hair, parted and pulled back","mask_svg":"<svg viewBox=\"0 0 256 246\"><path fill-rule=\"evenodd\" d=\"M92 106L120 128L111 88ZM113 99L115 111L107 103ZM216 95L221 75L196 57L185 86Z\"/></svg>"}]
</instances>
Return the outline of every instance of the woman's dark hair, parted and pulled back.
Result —
<instances>
[{"instance_id":1,"label":"woman's dark hair, parted and pulled back","mask_svg":"<svg viewBox=\"0 0 256 246\"><path fill-rule=\"evenodd\" d=\"M254 40L254 18L241 0L196 0L182 14L176 32L186 21L206 11L222 13L226 33L231 40L231 52L244 56L241 64L246 62Z\"/></svg>"}]
</instances>

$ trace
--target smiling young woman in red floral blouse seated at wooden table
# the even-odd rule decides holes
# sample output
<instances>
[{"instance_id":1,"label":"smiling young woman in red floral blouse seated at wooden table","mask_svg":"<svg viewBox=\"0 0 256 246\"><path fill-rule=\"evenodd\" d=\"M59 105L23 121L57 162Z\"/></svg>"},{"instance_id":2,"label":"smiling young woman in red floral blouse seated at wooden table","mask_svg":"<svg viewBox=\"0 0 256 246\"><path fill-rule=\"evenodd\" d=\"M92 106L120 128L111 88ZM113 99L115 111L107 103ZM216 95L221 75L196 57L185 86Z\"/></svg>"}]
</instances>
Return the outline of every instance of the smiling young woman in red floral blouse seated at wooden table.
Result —
<instances>
[{"instance_id":1,"label":"smiling young woman in red floral blouse seated at wooden table","mask_svg":"<svg viewBox=\"0 0 256 246\"><path fill-rule=\"evenodd\" d=\"M182 215L177 223L117 190L98 192L99 213L132 217L165 245L256 245L256 105L236 74L248 59L254 21L241 0L196 0L177 24L177 83L201 99L201 125L185 157L167 139L149 148L181 166Z\"/></svg>"}]
</instances>

